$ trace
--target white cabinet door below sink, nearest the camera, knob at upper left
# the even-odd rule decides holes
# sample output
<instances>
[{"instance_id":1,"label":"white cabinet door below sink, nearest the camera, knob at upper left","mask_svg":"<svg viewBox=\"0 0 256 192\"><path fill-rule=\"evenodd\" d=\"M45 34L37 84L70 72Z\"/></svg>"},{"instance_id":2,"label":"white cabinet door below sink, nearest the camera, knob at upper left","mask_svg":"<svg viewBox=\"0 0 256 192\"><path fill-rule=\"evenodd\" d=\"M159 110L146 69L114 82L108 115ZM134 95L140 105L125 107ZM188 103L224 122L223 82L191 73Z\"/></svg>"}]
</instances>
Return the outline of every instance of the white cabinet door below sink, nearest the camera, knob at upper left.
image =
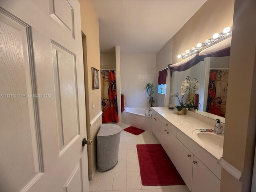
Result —
<instances>
[{"instance_id":1,"label":"white cabinet door below sink, nearest the camera, knob at upper left","mask_svg":"<svg viewBox=\"0 0 256 192\"><path fill-rule=\"evenodd\" d=\"M192 192L219 192L220 180L196 157L193 157Z\"/></svg>"}]
</instances>

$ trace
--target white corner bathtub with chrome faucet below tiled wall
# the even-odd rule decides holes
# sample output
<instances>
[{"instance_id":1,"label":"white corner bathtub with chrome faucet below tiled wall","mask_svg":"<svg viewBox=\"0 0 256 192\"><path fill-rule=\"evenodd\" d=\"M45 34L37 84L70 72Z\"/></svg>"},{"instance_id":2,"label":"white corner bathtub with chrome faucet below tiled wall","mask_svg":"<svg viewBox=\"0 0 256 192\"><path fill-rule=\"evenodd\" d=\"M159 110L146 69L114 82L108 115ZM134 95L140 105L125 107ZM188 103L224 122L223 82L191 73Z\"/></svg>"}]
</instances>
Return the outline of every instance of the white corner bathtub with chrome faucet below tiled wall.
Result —
<instances>
[{"instance_id":1,"label":"white corner bathtub with chrome faucet below tiled wall","mask_svg":"<svg viewBox=\"0 0 256 192\"><path fill-rule=\"evenodd\" d=\"M149 108L126 107L122 112L122 123L143 129L148 132L152 132L151 130L152 111L150 111L150 116L147 116L148 110Z\"/></svg>"}]
</instances>

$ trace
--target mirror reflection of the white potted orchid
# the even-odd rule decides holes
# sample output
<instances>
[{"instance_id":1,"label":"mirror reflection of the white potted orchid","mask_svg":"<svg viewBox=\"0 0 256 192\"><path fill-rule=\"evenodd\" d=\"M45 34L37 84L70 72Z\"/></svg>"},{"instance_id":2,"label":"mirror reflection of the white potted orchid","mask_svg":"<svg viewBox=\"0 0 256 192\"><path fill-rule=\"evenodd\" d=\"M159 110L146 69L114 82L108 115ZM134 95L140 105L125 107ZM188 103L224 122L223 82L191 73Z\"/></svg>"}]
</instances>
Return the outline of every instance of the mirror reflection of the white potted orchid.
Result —
<instances>
[{"instance_id":1,"label":"mirror reflection of the white potted orchid","mask_svg":"<svg viewBox=\"0 0 256 192\"><path fill-rule=\"evenodd\" d=\"M198 106L195 103L196 94L198 94L198 90L200 89L200 84L197 81L197 78L194 78L194 81L190 80L190 76L187 76L188 81L188 110L195 111L198 110Z\"/></svg>"}]
</instances>

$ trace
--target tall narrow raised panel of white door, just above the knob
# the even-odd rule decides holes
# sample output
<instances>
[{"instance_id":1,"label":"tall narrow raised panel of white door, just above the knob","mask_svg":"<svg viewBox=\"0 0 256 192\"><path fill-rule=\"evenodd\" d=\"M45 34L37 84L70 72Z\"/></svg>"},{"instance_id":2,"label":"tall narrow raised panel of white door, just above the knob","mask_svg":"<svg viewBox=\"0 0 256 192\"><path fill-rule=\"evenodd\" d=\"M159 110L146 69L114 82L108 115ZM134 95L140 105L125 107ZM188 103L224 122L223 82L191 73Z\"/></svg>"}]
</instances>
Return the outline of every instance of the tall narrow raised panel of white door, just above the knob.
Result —
<instances>
[{"instance_id":1,"label":"tall narrow raised panel of white door, just above the knob","mask_svg":"<svg viewBox=\"0 0 256 192\"><path fill-rule=\"evenodd\" d=\"M80 134L78 127L78 104L76 86L75 55L64 50L56 42L52 45L54 62L54 85L56 90L56 109L58 111L58 133L60 149L72 138Z\"/></svg>"}]
</instances>

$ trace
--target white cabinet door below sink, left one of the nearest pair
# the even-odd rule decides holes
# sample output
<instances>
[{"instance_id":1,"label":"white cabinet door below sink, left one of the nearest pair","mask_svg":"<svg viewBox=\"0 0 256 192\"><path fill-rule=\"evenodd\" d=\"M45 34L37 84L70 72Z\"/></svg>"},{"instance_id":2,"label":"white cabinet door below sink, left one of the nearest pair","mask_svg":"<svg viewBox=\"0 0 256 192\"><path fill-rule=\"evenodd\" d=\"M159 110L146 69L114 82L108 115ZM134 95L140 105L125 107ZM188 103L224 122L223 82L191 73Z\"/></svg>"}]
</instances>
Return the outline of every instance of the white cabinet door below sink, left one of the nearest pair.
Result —
<instances>
[{"instance_id":1,"label":"white cabinet door below sink, left one of the nearest pair","mask_svg":"<svg viewBox=\"0 0 256 192\"><path fill-rule=\"evenodd\" d=\"M184 182L188 186L189 190L192 189L192 170L193 170L193 154L180 142L178 139L174 140L174 146L176 152L173 152L174 166L180 173L180 176L183 178ZM196 191L197 192L197 191Z\"/></svg>"}]
</instances>

